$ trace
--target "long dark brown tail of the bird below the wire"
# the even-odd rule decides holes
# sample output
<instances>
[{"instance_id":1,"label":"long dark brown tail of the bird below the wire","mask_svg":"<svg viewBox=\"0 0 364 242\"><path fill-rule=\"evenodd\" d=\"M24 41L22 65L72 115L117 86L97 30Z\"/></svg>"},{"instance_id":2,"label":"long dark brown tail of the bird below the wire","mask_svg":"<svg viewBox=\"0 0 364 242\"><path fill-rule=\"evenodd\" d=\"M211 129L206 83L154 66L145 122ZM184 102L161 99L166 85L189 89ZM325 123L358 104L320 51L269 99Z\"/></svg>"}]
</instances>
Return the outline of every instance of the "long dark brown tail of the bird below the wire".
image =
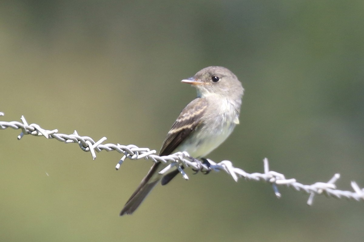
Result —
<instances>
[{"instance_id":1,"label":"long dark brown tail of the bird below the wire","mask_svg":"<svg viewBox=\"0 0 364 242\"><path fill-rule=\"evenodd\" d=\"M124 214L132 214L139 205L141 205L154 186L161 180L162 176L159 175L157 171L160 164L160 162L154 163L154 165L150 168L148 174L144 177L138 188L126 202L123 210L120 212L120 216Z\"/></svg>"}]
</instances>

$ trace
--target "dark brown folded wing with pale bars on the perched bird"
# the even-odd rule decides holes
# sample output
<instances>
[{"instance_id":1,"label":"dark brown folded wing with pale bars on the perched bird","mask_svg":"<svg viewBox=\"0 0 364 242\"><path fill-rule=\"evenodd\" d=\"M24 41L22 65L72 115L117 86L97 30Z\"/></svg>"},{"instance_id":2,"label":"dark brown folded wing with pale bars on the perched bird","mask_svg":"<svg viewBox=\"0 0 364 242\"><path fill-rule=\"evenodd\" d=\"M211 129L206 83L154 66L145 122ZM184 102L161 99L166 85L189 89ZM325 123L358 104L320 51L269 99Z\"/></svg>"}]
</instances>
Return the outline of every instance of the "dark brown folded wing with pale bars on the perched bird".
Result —
<instances>
[{"instance_id":1,"label":"dark brown folded wing with pale bars on the perched bird","mask_svg":"<svg viewBox=\"0 0 364 242\"><path fill-rule=\"evenodd\" d=\"M206 107L206 99L195 98L183 108L162 144L160 156L171 154L195 130L206 111Z\"/></svg>"}]
</instances>

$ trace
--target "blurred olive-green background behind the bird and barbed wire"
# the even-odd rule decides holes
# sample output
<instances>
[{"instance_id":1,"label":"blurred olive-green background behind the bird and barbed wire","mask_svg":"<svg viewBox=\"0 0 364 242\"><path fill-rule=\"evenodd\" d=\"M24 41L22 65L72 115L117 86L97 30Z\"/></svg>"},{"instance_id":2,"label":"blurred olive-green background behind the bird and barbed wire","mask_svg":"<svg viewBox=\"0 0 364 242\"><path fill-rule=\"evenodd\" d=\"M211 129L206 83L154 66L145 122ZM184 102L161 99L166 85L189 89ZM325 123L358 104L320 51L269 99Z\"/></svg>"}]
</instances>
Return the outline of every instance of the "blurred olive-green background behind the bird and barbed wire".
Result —
<instances>
[{"instance_id":1,"label":"blurred olive-green background behind the bird and barbed wire","mask_svg":"<svg viewBox=\"0 0 364 242\"><path fill-rule=\"evenodd\" d=\"M364 186L364 2L1 1L0 120L159 150L221 65L242 81L240 125L208 157L305 184ZM363 202L225 173L158 186L119 212L149 161L0 131L1 241L363 241ZM49 176L47 176L47 173ZM191 172L189 172L191 173Z\"/></svg>"}]
</instances>

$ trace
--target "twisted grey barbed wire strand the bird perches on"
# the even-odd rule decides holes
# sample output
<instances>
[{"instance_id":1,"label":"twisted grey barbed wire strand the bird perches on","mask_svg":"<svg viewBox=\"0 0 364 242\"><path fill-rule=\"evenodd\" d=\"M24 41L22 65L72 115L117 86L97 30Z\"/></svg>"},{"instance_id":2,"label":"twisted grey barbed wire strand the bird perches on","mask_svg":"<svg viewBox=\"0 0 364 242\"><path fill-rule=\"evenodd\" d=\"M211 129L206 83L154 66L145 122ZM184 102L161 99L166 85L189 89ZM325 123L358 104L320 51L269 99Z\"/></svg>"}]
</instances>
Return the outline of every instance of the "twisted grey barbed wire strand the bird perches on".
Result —
<instances>
[{"instance_id":1,"label":"twisted grey barbed wire strand the bird perches on","mask_svg":"<svg viewBox=\"0 0 364 242\"><path fill-rule=\"evenodd\" d=\"M0 112L0 116L3 116L4 113ZM326 195L328 197L334 198L346 198L348 200L355 201L364 201L364 188L360 188L355 181L351 182L351 187L353 191L348 190L339 190L336 189L335 182L340 178L340 174L336 173L328 182L315 182L314 184L305 185L297 182L296 179L286 179L285 176L281 173L270 171L269 170L269 162L268 159L265 158L263 160L264 163L264 173L254 172L248 173L244 170L234 167L231 161L223 160L219 163L215 163L210 159L206 159L209 164L202 163L190 157L187 152L177 152L167 156L158 156L156 155L157 151L150 150L149 148L139 148L136 145L121 145L121 144L102 144L106 137L99 139L98 141L94 141L92 138L88 136L80 136L75 130L73 134L60 134L57 129L54 130L45 130L41 128L37 124L28 124L25 120L24 116L20 118L21 122L17 121L0 121L0 129L4 130L6 128L13 128L15 130L20 129L21 133L17 136L17 139L20 140L24 135L33 135L33 136L44 136L46 139L56 139L58 141L62 141L64 143L78 143L80 148L85 152L90 152L92 159L96 159L96 152L100 152L102 150L106 151L117 151L122 153L123 156L116 164L116 170L120 168L120 165L123 163L126 158L130 160L139 160L146 159L151 160L153 162L160 161L162 163L168 164L166 168L160 171L160 174L164 174L170 169L176 167L181 173L182 177L185 180L188 180L187 174L183 171L181 166L191 167L194 170L200 170L202 172L209 171L224 171L237 182L239 178L243 177L245 180L254 180L254 181L265 181L269 182L272 185L273 191L278 198L281 197L281 193L278 190L278 186L287 186L293 188L294 190L305 192L309 194L309 198L307 201L308 205L312 205L313 198L315 195Z\"/></svg>"}]
</instances>

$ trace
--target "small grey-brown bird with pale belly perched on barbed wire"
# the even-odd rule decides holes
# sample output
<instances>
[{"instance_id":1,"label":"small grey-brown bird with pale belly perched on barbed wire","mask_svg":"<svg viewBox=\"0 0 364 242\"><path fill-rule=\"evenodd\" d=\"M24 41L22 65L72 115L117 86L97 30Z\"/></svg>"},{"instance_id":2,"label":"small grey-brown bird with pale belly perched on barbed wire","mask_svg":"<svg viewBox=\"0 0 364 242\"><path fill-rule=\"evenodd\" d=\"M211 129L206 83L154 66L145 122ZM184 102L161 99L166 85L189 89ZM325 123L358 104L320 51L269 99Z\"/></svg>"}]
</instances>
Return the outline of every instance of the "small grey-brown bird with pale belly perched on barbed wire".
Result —
<instances>
[{"instance_id":1,"label":"small grey-brown bird with pale belly perched on barbed wire","mask_svg":"<svg viewBox=\"0 0 364 242\"><path fill-rule=\"evenodd\" d=\"M179 114L163 141L159 156L186 151L194 159L200 159L223 143L239 124L244 88L236 75L222 66L205 67L181 82L195 87L197 97ZM165 167L160 161L152 165L120 216L132 214L159 181L166 185L178 175L178 169L159 174Z\"/></svg>"}]
</instances>

